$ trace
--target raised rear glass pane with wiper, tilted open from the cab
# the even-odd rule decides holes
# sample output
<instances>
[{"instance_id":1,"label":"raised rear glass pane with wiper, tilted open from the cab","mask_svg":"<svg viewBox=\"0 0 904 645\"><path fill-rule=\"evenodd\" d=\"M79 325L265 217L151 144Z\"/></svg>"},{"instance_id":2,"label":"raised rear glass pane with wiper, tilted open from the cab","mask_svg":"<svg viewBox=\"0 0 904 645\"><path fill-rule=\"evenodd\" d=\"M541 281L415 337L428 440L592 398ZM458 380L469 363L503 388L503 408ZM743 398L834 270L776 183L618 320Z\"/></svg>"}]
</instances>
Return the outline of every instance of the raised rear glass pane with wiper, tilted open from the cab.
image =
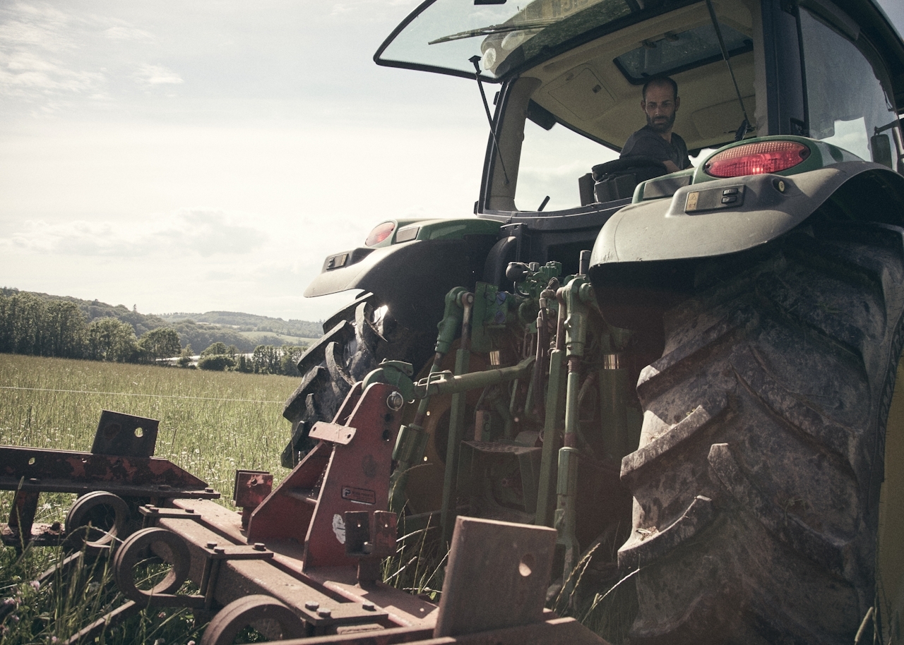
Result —
<instances>
[{"instance_id":1,"label":"raised rear glass pane with wiper, tilted open from the cab","mask_svg":"<svg viewBox=\"0 0 904 645\"><path fill-rule=\"evenodd\" d=\"M503 79L580 42L687 4L682 0L477 2L436 0L421 5L383 42L374 60L393 67L473 76L476 57L485 79Z\"/></svg>"}]
</instances>

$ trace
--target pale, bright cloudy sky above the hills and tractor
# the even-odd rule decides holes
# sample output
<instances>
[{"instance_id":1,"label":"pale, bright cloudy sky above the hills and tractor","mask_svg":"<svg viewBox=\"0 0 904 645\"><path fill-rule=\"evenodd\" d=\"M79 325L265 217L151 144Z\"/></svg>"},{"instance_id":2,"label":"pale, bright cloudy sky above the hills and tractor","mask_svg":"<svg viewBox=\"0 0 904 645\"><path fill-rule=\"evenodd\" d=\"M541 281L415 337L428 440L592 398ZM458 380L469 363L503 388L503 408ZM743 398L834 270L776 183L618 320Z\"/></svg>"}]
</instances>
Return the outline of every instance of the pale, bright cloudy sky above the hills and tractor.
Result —
<instances>
[{"instance_id":1,"label":"pale, bright cloudy sky above the hills and tractor","mask_svg":"<svg viewBox=\"0 0 904 645\"><path fill-rule=\"evenodd\" d=\"M477 198L474 81L372 61L417 4L0 0L0 286L329 316L327 254Z\"/></svg>"}]
</instances>

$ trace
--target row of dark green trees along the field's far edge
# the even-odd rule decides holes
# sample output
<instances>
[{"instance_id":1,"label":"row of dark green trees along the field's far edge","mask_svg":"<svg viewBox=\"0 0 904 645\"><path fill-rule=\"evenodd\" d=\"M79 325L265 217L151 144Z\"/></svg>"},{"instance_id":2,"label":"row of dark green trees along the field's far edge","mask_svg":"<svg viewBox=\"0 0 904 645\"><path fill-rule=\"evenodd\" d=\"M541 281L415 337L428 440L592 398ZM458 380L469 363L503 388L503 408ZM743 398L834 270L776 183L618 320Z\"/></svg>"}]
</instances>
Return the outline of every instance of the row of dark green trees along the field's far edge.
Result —
<instances>
[{"instance_id":1,"label":"row of dark green trees along the field's far edge","mask_svg":"<svg viewBox=\"0 0 904 645\"><path fill-rule=\"evenodd\" d=\"M304 350L295 345L259 345L247 356L235 345L214 342L202 352L198 367L297 376L297 358ZM113 317L88 322L74 302L15 291L0 294L0 353L151 364L180 357L179 364L192 364L191 345L183 349L179 333L171 327L157 327L139 337L128 322Z\"/></svg>"}]
</instances>

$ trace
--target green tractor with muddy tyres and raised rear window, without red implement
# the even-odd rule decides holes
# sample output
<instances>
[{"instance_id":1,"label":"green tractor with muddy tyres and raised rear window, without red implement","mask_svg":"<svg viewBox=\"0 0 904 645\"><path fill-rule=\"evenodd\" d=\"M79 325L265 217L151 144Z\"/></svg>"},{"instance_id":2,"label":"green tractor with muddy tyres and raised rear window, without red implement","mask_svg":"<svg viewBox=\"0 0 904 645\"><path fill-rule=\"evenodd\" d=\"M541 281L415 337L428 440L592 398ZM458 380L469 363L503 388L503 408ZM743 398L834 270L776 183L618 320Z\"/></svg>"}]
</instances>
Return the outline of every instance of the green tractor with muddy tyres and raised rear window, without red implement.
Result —
<instances>
[{"instance_id":1,"label":"green tractor with muddy tyres and raised rear window, without red implement","mask_svg":"<svg viewBox=\"0 0 904 645\"><path fill-rule=\"evenodd\" d=\"M480 194L326 258L306 295L363 295L299 361L284 465L391 382L406 526L557 528L553 592L629 590L633 645L900 640L904 42L880 6L427 0L374 60L476 80ZM671 173L614 158L664 77L696 159Z\"/></svg>"}]
</instances>

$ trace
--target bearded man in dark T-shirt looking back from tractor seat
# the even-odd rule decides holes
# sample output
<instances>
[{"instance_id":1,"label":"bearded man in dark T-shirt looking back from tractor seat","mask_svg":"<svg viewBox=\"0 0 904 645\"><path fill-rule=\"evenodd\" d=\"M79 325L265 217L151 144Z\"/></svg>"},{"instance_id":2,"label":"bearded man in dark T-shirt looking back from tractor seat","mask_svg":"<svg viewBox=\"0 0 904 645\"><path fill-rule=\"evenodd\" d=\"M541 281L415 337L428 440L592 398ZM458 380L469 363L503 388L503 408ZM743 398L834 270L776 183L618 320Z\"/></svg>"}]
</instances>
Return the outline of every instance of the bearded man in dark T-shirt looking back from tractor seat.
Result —
<instances>
[{"instance_id":1,"label":"bearded man in dark T-shirt looking back from tractor seat","mask_svg":"<svg viewBox=\"0 0 904 645\"><path fill-rule=\"evenodd\" d=\"M665 76L646 81L640 100L646 125L627 138L621 158L650 157L665 164L669 173L689 168L687 145L681 136L672 132L679 106L678 84L673 79Z\"/></svg>"}]
</instances>

